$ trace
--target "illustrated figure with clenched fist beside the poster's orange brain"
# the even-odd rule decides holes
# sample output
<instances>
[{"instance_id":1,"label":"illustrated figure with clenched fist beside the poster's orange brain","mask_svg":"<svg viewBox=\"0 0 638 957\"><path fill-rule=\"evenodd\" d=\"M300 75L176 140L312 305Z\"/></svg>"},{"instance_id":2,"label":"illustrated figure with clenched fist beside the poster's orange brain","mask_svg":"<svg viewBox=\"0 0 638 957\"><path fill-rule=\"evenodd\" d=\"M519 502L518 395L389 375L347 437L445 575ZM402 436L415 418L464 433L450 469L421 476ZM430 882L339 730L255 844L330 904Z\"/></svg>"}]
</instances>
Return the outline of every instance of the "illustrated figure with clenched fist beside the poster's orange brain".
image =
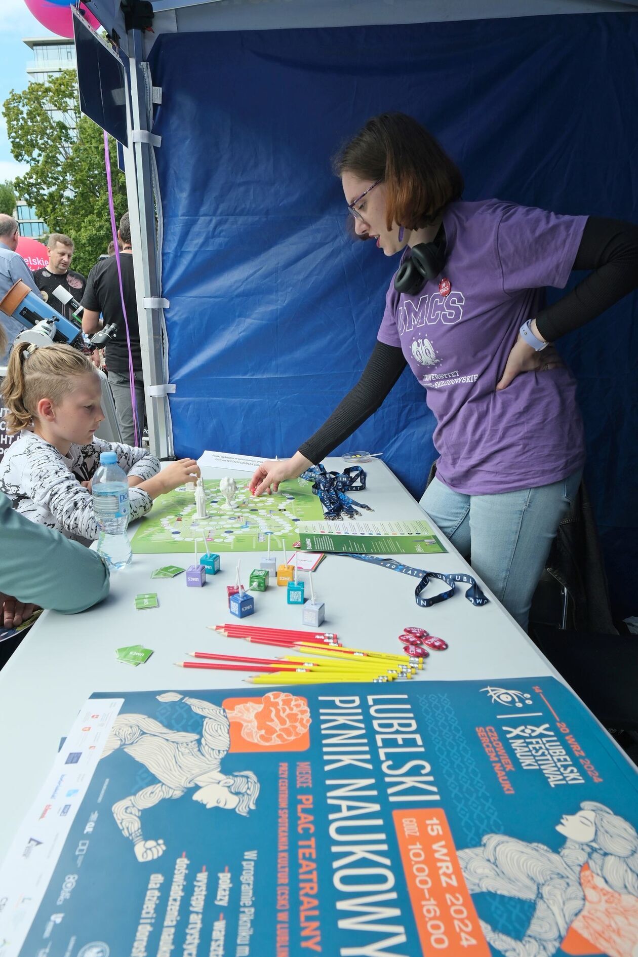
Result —
<instances>
[{"instance_id":1,"label":"illustrated figure with clenched fist beside the poster's orange brain","mask_svg":"<svg viewBox=\"0 0 638 957\"><path fill-rule=\"evenodd\" d=\"M253 811L259 782L253 771L225 774L222 759L230 746L230 722L224 708L184 698L176 691L157 696L158 701L184 701L195 714L202 715L202 733L171 731L154 718L141 714L119 715L100 760L122 748L139 761L158 784L143 788L137 794L124 797L113 805L113 815L121 833L134 845L139 861L155 860L164 854L164 837L146 839L143 835L141 814L165 798L178 798L193 789L193 801L207 808L223 808L238 814Z\"/></svg>"}]
</instances>

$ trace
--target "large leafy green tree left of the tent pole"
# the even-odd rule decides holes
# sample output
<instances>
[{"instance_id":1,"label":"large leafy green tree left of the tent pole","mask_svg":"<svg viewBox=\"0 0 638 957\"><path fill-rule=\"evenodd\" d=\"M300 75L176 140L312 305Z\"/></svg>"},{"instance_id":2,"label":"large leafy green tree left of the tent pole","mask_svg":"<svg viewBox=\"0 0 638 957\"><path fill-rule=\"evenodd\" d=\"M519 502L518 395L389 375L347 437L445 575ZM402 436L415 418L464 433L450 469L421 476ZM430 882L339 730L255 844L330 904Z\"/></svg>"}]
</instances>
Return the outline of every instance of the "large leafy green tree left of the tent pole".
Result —
<instances>
[{"instance_id":1,"label":"large leafy green tree left of the tent pole","mask_svg":"<svg viewBox=\"0 0 638 957\"><path fill-rule=\"evenodd\" d=\"M5 100L3 113L11 153L29 166L15 180L21 199L34 207L52 233L76 244L73 268L86 275L112 235L108 210L103 133L79 111L77 75L65 70L46 83L30 83ZM124 176L110 140L116 222L126 211Z\"/></svg>"}]
</instances>

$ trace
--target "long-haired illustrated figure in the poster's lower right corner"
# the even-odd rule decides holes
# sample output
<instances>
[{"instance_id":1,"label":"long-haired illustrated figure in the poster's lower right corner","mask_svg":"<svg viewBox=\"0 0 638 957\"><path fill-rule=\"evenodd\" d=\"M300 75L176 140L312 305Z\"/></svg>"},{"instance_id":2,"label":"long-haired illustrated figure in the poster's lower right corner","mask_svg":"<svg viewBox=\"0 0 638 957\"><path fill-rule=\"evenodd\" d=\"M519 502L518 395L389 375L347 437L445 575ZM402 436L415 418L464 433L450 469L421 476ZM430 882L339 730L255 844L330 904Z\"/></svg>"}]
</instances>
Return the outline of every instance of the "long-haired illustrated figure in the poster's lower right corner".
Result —
<instances>
[{"instance_id":1,"label":"long-haired illustrated figure in the poster's lower right corner","mask_svg":"<svg viewBox=\"0 0 638 957\"><path fill-rule=\"evenodd\" d=\"M481 921L486 940L506 957L551 957L563 945L568 953L598 948L609 957L636 957L635 828L605 805L583 801L556 830L567 838L558 853L507 835L486 835L480 847L458 852L471 894L536 901L521 940Z\"/></svg>"}]
</instances>

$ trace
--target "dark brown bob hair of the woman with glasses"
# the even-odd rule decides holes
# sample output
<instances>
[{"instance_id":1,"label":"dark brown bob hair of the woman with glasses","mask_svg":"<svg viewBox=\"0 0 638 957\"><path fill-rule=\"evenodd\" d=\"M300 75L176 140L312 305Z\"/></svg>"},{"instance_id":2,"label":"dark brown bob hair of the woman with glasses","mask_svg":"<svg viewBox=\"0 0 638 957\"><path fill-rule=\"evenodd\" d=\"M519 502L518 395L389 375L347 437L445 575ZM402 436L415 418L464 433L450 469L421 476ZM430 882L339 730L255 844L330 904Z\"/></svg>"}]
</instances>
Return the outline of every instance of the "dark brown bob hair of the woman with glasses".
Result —
<instances>
[{"instance_id":1,"label":"dark brown bob hair of the woman with glasses","mask_svg":"<svg viewBox=\"0 0 638 957\"><path fill-rule=\"evenodd\" d=\"M463 193L463 177L448 154L420 122L405 113L372 117L333 161L335 172L382 180L386 227L429 226Z\"/></svg>"}]
</instances>

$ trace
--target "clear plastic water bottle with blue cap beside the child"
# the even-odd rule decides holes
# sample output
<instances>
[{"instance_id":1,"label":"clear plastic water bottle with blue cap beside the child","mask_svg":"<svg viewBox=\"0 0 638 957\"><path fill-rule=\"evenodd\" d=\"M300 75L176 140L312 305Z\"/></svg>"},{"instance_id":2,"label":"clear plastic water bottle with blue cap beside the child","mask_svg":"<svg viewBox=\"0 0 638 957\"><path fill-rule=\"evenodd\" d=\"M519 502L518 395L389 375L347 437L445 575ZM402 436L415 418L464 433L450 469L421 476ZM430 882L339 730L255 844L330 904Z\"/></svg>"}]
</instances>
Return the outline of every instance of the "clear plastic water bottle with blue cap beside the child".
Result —
<instances>
[{"instance_id":1,"label":"clear plastic water bottle with blue cap beside the child","mask_svg":"<svg viewBox=\"0 0 638 957\"><path fill-rule=\"evenodd\" d=\"M99 469L91 483L93 509L99 523L99 554L111 568L125 568L131 561L128 524L128 479L115 452L102 452Z\"/></svg>"}]
</instances>

